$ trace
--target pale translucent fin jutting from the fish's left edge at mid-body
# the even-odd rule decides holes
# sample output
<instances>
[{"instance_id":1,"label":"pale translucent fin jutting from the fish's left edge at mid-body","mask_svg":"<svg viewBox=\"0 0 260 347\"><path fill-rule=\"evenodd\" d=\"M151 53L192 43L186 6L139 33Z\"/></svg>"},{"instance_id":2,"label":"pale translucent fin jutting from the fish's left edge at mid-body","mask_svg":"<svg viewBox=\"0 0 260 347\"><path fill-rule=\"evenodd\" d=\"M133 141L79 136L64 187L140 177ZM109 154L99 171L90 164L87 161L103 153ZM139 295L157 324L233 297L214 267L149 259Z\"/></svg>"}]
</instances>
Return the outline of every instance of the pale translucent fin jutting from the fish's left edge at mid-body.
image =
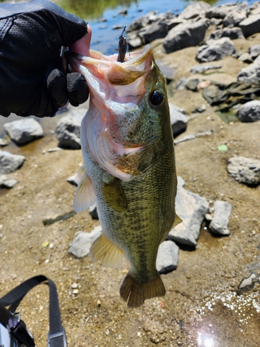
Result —
<instances>
[{"instance_id":1,"label":"pale translucent fin jutting from the fish's left edge at mid-body","mask_svg":"<svg viewBox=\"0 0 260 347\"><path fill-rule=\"evenodd\" d=\"M94 187L89 176L84 173L76 189L76 194L73 200L73 209L76 212L81 212L94 205L94 203L96 203Z\"/></svg>"}]
</instances>

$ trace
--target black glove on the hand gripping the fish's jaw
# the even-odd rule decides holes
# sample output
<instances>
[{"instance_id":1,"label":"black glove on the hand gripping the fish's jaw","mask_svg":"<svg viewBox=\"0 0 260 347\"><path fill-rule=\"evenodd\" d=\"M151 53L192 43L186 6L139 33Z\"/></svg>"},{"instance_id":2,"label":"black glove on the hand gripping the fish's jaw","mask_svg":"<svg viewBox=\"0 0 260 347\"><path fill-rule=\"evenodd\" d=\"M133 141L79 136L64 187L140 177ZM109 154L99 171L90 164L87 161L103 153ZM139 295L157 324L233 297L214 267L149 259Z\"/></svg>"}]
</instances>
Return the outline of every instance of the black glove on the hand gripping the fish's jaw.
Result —
<instances>
[{"instance_id":1,"label":"black glove on the hand gripping the fish's jaw","mask_svg":"<svg viewBox=\"0 0 260 347\"><path fill-rule=\"evenodd\" d=\"M60 51L87 33L83 19L47 0L0 5L0 114L52 117L87 100L85 78L65 74Z\"/></svg>"}]
</instances>

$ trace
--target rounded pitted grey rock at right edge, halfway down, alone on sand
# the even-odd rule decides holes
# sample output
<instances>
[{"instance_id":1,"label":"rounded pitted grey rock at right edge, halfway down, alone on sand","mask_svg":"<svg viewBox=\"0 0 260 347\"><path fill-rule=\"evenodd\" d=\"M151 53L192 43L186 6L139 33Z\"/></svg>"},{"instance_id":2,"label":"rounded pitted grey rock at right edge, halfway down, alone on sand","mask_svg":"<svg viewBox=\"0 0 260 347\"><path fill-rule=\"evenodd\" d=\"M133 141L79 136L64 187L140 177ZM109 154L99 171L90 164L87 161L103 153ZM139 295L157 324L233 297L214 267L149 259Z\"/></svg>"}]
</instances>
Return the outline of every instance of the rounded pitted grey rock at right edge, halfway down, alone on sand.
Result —
<instances>
[{"instance_id":1,"label":"rounded pitted grey rock at right edge, halfway down, alone on sand","mask_svg":"<svg viewBox=\"0 0 260 347\"><path fill-rule=\"evenodd\" d=\"M230 158L227 171L239 183L257 186L260 184L260 160L245 157Z\"/></svg>"}]
</instances>

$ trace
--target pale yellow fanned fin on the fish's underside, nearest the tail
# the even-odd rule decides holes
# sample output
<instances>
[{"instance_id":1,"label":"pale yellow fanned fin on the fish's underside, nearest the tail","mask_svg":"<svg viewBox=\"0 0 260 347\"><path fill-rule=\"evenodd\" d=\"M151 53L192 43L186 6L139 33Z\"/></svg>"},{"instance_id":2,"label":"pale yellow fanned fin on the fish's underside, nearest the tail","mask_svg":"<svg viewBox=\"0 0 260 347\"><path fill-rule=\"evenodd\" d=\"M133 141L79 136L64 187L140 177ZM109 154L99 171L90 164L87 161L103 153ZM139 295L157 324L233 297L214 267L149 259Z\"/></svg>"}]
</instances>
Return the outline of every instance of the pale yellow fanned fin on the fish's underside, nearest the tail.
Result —
<instances>
[{"instance_id":1,"label":"pale yellow fanned fin on the fish's underside, nearest the tail","mask_svg":"<svg viewBox=\"0 0 260 347\"><path fill-rule=\"evenodd\" d=\"M123 251L101 234L89 251L94 262L101 260L103 266L119 267L122 264Z\"/></svg>"}]
</instances>

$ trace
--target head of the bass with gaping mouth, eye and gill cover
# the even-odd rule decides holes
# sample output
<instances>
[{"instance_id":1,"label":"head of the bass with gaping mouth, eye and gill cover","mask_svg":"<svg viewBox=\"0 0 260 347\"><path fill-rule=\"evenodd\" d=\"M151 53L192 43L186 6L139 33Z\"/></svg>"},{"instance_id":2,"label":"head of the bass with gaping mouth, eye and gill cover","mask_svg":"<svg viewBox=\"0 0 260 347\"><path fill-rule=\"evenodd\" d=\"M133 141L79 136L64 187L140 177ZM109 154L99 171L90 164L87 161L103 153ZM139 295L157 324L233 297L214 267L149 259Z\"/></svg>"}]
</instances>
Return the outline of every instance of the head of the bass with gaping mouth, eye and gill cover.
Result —
<instances>
[{"instance_id":1,"label":"head of the bass with gaping mouth, eye and gill cover","mask_svg":"<svg viewBox=\"0 0 260 347\"><path fill-rule=\"evenodd\" d=\"M123 181L139 176L163 150L164 132L171 128L166 83L152 49L127 53L123 62L98 51L67 59L89 86L81 132L87 151L112 176Z\"/></svg>"}]
</instances>

